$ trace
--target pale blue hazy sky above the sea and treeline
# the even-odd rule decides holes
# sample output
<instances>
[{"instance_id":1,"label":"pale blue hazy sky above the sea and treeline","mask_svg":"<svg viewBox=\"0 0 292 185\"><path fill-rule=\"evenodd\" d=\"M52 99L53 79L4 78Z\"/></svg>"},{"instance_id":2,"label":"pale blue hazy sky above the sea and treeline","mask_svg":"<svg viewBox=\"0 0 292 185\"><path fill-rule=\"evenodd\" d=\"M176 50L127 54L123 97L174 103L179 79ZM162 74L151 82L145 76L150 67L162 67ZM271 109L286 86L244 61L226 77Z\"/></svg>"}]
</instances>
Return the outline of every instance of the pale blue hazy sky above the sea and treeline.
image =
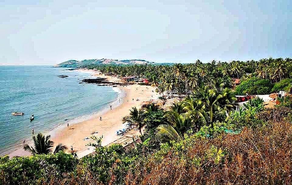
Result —
<instances>
[{"instance_id":1,"label":"pale blue hazy sky above the sea and treeline","mask_svg":"<svg viewBox=\"0 0 292 185\"><path fill-rule=\"evenodd\" d=\"M0 65L292 57L290 0L0 0Z\"/></svg>"}]
</instances>

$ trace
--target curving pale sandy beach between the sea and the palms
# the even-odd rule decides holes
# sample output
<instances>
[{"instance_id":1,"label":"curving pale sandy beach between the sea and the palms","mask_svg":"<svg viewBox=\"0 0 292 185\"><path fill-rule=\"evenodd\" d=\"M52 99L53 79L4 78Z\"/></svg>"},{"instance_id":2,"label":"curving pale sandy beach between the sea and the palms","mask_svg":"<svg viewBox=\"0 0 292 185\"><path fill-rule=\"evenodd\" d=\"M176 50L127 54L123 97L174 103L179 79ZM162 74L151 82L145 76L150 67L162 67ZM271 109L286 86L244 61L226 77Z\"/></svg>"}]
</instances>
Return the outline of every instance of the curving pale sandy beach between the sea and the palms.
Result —
<instances>
[{"instance_id":1,"label":"curving pale sandy beach between the sea and the palms","mask_svg":"<svg viewBox=\"0 0 292 185\"><path fill-rule=\"evenodd\" d=\"M120 81L120 79L116 77L98 74L93 70L82 69L82 72L88 72L91 73L92 76L106 78L110 82ZM141 107L142 102L157 99L158 97L158 94L155 92L155 87L151 86L140 86L138 84L134 84L128 86L117 86L117 88L124 93L124 96L120 99L119 105L116 107L112 106L112 109L110 109L109 104L107 109L102 111L102 113L97 113L88 120L71 124L68 127L57 130L51 138L51 140L55 143L54 146L58 143L62 143L68 147L68 150L70 150L71 146L73 146L73 150L77 152L79 158L88 155L94 151L94 147L86 146L86 144L90 142L95 142L90 139L91 136L103 136L103 146L112 143L121 137L116 135L116 130L123 128L122 118L129 114L129 110L135 106ZM100 116L102 117L101 121L99 120ZM92 132L98 133L91 134ZM133 135L140 135L138 130L131 133ZM23 149L19 149L9 154L9 156L16 155L22 156L28 155L28 153Z\"/></svg>"}]
</instances>

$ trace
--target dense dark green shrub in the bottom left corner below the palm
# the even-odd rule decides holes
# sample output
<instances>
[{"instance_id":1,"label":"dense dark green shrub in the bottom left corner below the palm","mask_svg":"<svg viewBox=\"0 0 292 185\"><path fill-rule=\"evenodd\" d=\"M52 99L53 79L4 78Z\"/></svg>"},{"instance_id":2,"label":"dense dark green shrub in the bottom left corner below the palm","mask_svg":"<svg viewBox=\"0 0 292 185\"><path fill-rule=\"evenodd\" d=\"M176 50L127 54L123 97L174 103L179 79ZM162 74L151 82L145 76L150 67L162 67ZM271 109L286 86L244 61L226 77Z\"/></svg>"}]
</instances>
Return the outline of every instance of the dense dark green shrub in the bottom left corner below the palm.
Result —
<instances>
[{"instance_id":1,"label":"dense dark green shrub in the bottom left corner below the palm","mask_svg":"<svg viewBox=\"0 0 292 185\"><path fill-rule=\"evenodd\" d=\"M63 173L75 170L78 159L71 154L58 152L34 156L0 158L0 184L40 184Z\"/></svg>"}]
</instances>

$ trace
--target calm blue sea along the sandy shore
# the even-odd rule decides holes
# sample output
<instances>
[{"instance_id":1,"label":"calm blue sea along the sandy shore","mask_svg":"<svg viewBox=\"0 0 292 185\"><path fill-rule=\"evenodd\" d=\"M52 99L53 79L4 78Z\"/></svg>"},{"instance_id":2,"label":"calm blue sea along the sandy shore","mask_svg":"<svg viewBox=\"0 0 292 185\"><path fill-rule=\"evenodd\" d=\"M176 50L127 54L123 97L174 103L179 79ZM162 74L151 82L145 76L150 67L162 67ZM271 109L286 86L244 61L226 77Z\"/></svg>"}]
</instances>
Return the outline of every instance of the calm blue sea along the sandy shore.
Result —
<instances>
[{"instance_id":1,"label":"calm blue sea along the sandy shore","mask_svg":"<svg viewBox=\"0 0 292 185\"><path fill-rule=\"evenodd\" d=\"M96 113L117 99L111 87L79 84L90 74L49 66L0 66L0 153L35 133L66 125L66 119ZM57 75L68 75L58 78ZM24 116L12 116L15 111ZM35 119L30 122L30 115Z\"/></svg>"}]
</instances>

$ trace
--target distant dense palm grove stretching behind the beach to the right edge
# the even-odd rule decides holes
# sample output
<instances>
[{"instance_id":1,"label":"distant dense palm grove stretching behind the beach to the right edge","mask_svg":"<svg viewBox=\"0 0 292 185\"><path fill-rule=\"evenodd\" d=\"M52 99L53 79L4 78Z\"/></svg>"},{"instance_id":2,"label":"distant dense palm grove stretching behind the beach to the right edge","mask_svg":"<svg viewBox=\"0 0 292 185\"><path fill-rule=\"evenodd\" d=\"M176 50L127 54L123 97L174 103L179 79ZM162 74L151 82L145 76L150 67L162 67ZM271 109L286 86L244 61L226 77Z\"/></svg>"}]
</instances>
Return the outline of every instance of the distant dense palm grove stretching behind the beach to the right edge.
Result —
<instances>
[{"instance_id":1,"label":"distant dense palm grove stretching behind the beach to the right edge","mask_svg":"<svg viewBox=\"0 0 292 185\"><path fill-rule=\"evenodd\" d=\"M259 61L232 61L169 65L129 65L129 66L84 66L118 76L146 77L158 88L168 93L188 93L201 84L213 85L218 81L231 87L232 78L243 80L254 77L259 85L268 85L262 93L271 91L273 83L292 77L292 59L261 59ZM253 91L252 91L253 92ZM242 92L238 92L242 93Z\"/></svg>"}]
</instances>

